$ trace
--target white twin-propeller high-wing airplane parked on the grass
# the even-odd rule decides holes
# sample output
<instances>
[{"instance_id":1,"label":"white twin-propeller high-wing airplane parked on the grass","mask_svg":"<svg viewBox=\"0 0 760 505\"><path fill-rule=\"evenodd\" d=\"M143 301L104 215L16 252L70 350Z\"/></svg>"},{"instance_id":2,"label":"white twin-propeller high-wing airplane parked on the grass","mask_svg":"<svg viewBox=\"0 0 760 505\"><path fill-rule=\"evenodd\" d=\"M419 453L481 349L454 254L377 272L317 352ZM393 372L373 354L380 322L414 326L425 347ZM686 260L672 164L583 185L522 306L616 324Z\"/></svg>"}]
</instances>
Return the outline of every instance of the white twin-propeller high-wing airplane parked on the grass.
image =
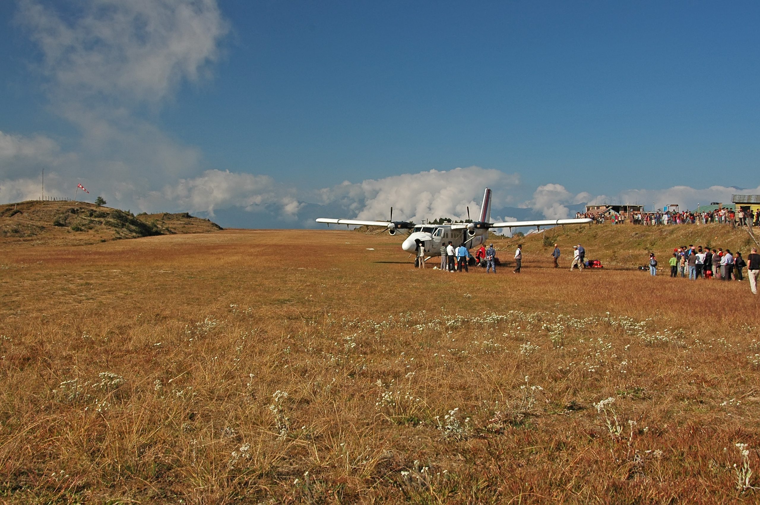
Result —
<instances>
[{"instance_id":1,"label":"white twin-propeller high-wing airplane parked on the grass","mask_svg":"<svg viewBox=\"0 0 760 505\"><path fill-rule=\"evenodd\" d=\"M470 207L467 207L467 217L470 215ZM451 241L454 246L464 245L467 249L477 248L488 240L488 232L491 228L519 228L522 226L557 226L557 225L582 225L591 223L592 219L544 219L543 221L510 221L503 223L489 223L491 220L491 190L486 188L483 194L483 206L480 207L480 219L473 223L448 223L444 225L415 225L409 221L394 221L393 207L391 207L390 221L361 221L359 219L331 219L320 217L317 223L346 225L348 226L382 226L388 229L390 235L396 235L398 230L412 230L404 239L401 248L410 253L416 253L420 247L428 257L439 256L441 245Z\"/></svg>"}]
</instances>

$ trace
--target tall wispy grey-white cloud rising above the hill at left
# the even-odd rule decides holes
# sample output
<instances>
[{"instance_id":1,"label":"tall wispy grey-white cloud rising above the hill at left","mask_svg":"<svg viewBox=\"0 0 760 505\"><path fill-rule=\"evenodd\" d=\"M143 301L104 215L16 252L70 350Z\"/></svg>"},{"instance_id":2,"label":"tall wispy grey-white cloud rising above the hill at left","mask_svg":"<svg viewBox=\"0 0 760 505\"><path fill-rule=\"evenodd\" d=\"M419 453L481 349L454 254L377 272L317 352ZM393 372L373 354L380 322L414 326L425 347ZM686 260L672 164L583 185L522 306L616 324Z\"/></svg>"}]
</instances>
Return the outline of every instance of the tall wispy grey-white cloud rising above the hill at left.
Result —
<instances>
[{"instance_id":1,"label":"tall wispy grey-white cloud rising above the hill at left","mask_svg":"<svg viewBox=\"0 0 760 505\"><path fill-rule=\"evenodd\" d=\"M207 76L220 58L229 27L217 0L18 5L17 20L40 49L34 66L46 78L49 109L76 129L62 139L71 153L43 135L0 133L6 188L25 188L46 168L60 176L46 184L47 194L83 181L112 204L131 207L151 190L201 172L201 152L161 131L145 109L171 99L183 80Z\"/></svg>"}]
</instances>

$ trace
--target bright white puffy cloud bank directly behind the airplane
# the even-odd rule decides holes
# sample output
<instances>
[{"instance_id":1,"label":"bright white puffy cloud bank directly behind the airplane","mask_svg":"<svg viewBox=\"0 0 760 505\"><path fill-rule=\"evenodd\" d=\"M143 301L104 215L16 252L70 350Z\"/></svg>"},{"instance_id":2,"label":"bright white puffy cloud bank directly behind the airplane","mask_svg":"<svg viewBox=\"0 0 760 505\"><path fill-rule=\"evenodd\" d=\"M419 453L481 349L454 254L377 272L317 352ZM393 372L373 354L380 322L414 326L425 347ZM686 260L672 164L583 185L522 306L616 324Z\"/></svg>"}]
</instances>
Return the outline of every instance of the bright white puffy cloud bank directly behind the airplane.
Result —
<instances>
[{"instance_id":1,"label":"bright white puffy cloud bank directly behind the airplane","mask_svg":"<svg viewBox=\"0 0 760 505\"><path fill-rule=\"evenodd\" d=\"M505 190L518 182L517 174L470 166L367 179L356 184L346 181L320 190L319 196L324 204L338 202L356 212L358 219L388 219L393 207L394 219L419 223L444 216L465 219L468 206L470 216L477 216L486 187L494 190L492 207L498 207L507 196Z\"/></svg>"}]
</instances>

